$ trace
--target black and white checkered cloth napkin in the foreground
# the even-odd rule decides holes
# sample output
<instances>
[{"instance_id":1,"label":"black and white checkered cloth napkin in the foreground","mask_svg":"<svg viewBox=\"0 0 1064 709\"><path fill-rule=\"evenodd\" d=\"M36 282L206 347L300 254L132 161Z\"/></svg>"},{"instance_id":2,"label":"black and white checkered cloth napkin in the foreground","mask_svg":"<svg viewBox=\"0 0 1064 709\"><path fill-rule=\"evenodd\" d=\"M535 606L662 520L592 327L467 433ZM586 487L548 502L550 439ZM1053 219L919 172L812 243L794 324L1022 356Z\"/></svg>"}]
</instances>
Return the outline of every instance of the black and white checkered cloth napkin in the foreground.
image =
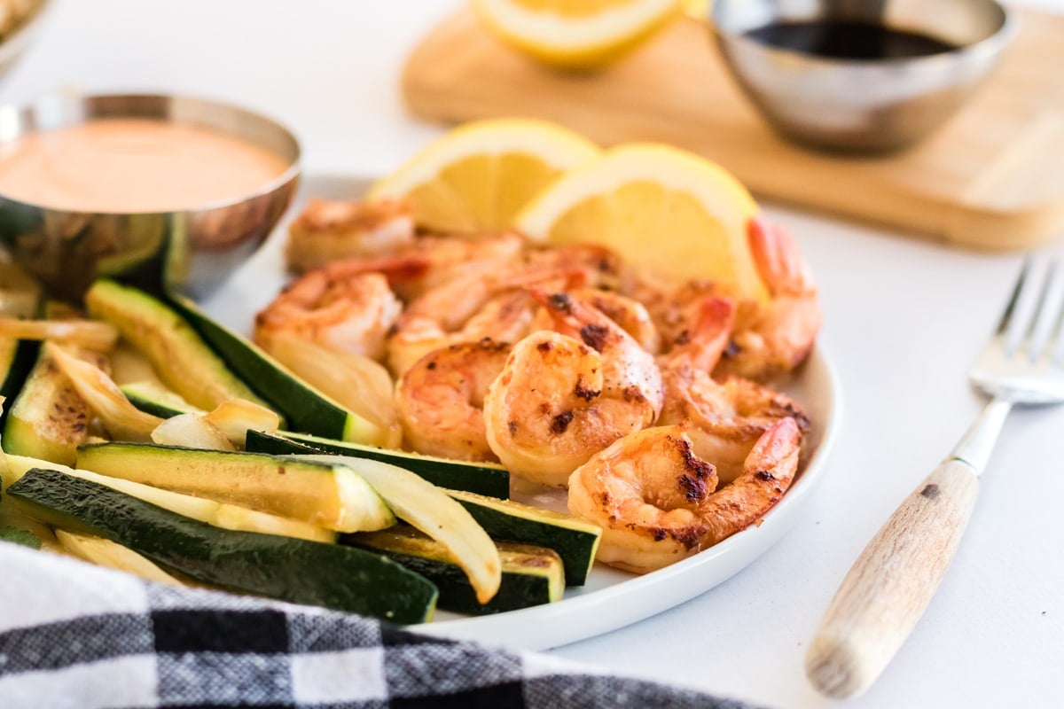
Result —
<instances>
[{"instance_id":1,"label":"black and white checkered cloth napkin in the foreground","mask_svg":"<svg viewBox=\"0 0 1064 709\"><path fill-rule=\"evenodd\" d=\"M0 707L745 705L0 542Z\"/></svg>"}]
</instances>

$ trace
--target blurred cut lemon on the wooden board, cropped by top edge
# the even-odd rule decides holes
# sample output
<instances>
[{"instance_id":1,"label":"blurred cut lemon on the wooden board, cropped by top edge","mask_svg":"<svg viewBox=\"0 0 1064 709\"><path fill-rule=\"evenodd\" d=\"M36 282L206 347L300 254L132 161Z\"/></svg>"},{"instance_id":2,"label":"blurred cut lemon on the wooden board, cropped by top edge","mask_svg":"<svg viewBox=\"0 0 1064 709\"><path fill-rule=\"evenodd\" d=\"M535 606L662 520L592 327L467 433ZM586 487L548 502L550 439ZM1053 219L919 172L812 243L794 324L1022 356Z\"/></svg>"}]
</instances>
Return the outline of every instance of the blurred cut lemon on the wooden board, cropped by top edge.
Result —
<instances>
[{"instance_id":1,"label":"blurred cut lemon on the wooden board, cropped by top edge","mask_svg":"<svg viewBox=\"0 0 1064 709\"><path fill-rule=\"evenodd\" d=\"M548 64L605 64L676 16L682 0L473 0L482 23Z\"/></svg>"}]
</instances>

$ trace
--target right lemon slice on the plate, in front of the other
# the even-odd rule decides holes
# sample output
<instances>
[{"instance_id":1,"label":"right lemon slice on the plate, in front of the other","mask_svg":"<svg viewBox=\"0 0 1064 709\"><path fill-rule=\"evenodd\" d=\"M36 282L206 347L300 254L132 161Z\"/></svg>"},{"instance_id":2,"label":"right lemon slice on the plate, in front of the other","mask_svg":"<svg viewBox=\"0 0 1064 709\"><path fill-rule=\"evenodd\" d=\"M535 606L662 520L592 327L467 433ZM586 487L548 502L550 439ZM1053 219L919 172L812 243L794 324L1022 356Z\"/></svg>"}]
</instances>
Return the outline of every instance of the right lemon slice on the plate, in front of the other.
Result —
<instances>
[{"instance_id":1,"label":"right lemon slice on the plate, in front of the other","mask_svg":"<svg viewBox=\"0 0 1064 709\"><path fill-rule=\"evenodd\" d=\"M712 278L767 299L747 244L758 205L720 166L676 148L614 148L554 182L517 217L529 238L594 242L670 281Z\"/></svg>"}]
</instances>

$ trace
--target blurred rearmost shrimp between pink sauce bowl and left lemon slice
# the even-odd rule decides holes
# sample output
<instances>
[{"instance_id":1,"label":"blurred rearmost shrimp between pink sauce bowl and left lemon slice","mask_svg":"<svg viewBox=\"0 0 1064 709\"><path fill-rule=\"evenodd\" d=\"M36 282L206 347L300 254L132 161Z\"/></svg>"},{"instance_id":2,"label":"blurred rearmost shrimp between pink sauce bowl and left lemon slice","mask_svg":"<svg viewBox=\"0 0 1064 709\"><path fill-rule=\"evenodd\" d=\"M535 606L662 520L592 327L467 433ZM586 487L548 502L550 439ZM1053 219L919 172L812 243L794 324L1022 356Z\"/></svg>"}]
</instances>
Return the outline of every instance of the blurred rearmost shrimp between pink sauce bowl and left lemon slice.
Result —
<instances>
[{"instance_id":1,"label":"blurred rearmost shrimp between pink sauce bowl and left lemon slice","mask_svg":"<svg viewBox=\"0 0 1064 709\"><path fill-rule=\"evenodd\" d=\"M404 202L311 199L292 225L285 258L297 273L352 257L393 254L414 241Z\"/></svg>"}]
</instances>

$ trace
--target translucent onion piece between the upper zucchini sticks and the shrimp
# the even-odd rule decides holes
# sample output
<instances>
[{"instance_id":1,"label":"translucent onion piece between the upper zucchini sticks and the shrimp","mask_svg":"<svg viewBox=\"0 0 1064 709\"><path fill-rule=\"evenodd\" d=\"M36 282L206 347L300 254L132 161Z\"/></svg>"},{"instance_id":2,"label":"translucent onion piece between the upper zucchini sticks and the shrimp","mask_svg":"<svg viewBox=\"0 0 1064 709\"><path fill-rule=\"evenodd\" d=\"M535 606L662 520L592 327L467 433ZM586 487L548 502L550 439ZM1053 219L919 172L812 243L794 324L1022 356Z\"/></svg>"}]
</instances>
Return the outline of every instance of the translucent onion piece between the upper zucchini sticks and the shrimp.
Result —
<instances>
[{"instance_id":1,"label":"translucent onion piece between the upper zucchini sticks and the shrimp","mask_svg":"<svg viewBox=\"0 0 1064 709\"><path fill-rule=\"evenodd\" d=\"M266 344L269 353L297 376L379 427L375 444L398 448L402 427L396 410L395 383L380 362L295 335L272 335Z\"/></svg>"}]
</instances>

